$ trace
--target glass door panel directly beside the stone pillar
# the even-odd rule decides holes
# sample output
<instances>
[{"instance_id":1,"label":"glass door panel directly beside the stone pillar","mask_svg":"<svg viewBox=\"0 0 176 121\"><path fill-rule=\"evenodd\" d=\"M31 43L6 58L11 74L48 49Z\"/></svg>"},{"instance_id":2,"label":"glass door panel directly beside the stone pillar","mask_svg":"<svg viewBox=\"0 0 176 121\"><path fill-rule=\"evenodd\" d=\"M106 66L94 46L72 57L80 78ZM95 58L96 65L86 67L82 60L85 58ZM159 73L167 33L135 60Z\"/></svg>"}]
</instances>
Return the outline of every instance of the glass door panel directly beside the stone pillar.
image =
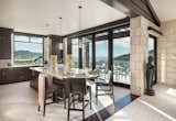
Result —
<instances>
[{"instance_id":1,"label":"glass door panel directly beside the stone pillar","mask_svg":"<svg viewBox=\"0 0 176 121\"><path fill-rule=\"evenodd\" d=\"M130 37L113 38L113 81L130 85Z\"/></svg>"}]
</instances>

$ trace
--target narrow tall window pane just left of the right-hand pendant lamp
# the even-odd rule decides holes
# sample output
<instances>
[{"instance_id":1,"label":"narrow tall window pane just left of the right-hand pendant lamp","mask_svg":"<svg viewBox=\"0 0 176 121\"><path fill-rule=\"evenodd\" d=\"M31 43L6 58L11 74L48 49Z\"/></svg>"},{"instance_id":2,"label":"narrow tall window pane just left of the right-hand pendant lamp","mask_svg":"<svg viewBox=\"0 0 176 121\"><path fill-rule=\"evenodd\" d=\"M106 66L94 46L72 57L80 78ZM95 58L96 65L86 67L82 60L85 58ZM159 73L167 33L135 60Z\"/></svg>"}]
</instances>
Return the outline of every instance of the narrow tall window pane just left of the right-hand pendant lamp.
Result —
<instances>
[{"instance_id":1,"label":"narrow tall window pane just left of the right-hand pendant lamp","mask_svg":"<svg viewBox=\"0 0 176 121\"><path fill-rule=\"evenodd\" d=\"M78 68L78 38L73 38L72 40L72 54L73 54L73 59L74 59L74 67Z\"/></svg>"}]
</instances>

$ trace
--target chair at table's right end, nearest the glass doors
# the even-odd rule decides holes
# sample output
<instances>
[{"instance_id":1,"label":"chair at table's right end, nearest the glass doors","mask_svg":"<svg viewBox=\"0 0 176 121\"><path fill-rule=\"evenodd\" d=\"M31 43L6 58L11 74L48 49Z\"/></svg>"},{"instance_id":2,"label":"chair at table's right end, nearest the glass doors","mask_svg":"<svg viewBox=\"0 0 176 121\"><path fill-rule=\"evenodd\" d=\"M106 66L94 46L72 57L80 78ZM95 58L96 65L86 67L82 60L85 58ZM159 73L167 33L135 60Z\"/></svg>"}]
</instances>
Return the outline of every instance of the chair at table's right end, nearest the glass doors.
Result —
<instances>
[{"instance_id":1,"label":"chair at table's right end, nearest the glass doors","mask_svg":"<svg viewBox=\"0 0 176 121\"><path fill-rule=\"evenodd\" d=\"M96 103L98 102L98 96L109 95L112 97L114 103L114 95L113 95L113 73L108 70L106 74L106 78L96 79Z\"/></svg>"}]
</instances>

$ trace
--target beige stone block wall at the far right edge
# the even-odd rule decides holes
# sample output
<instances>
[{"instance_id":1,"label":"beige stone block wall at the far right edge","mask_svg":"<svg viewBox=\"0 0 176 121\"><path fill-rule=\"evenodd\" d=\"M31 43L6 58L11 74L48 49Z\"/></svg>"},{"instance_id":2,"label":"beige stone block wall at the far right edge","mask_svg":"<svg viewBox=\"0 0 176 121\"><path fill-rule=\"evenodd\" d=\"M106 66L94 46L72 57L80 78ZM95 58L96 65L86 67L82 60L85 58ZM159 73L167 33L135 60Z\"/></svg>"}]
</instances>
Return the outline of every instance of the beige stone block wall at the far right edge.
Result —
<instances>
[{"instance_id":1,"label":"beige stone block wall at the far right edge","mask_svg":"<svg viewBox=\"0 0 176 121\"><path fill-rule=\"evenodd\" d=\"M176 20L162 23L157 41L157 80L176 85Z\"/></svg>"}]
</instances>

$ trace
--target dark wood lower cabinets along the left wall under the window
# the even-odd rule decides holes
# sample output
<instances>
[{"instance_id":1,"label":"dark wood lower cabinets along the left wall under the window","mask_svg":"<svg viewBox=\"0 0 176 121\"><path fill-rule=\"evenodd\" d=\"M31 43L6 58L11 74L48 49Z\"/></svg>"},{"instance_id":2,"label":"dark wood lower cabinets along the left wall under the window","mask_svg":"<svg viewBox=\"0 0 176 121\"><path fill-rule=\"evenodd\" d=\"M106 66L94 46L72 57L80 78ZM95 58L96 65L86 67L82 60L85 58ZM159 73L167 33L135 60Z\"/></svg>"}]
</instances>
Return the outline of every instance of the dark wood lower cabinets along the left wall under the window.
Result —
<instances>
[{"instance_id":1,"label":"dark wood lower cabinets along the left wall under the window","mask_svg":"<svg viewBox=\"0 0 176 121\"><path fill-rule=\"evenodd\" d=\"M0 85L31 80L32 72L29 67L0 68Z\"/></svg>"}]
</instances>

